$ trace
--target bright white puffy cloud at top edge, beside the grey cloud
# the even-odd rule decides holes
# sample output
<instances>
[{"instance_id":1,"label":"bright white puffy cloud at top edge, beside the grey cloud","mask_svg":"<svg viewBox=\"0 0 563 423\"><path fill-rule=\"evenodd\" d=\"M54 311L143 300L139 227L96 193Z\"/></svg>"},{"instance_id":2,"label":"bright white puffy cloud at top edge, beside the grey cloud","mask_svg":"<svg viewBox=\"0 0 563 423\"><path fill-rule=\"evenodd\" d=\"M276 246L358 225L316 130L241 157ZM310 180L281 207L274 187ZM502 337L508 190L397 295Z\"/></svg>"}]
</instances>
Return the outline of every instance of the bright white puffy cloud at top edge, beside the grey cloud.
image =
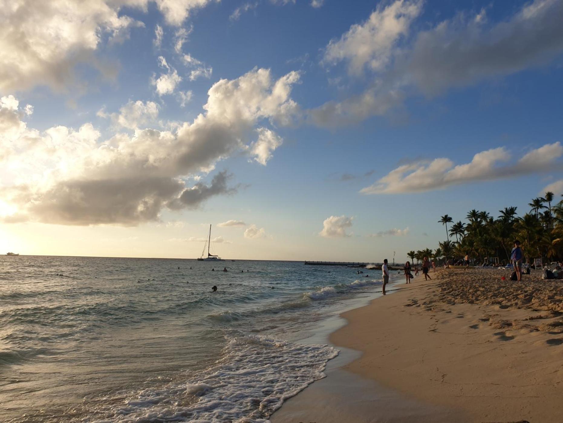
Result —
<instances>
[{"instance_id":1,"label":"bright white puffy cloud at top edge, beside the grey cloud","mask_svg":"<svg viewBox=\"0 0 563 423\"><path fill-rule=\"evenodd\" d=\"M420 1L397 0L385 8L379 5L363 24L352 25L338 41L330 41L323 61L334 64L344 60L352 74L360 74L365 67L383 69L421 10Z\"/></svg>"}]
</instances>

